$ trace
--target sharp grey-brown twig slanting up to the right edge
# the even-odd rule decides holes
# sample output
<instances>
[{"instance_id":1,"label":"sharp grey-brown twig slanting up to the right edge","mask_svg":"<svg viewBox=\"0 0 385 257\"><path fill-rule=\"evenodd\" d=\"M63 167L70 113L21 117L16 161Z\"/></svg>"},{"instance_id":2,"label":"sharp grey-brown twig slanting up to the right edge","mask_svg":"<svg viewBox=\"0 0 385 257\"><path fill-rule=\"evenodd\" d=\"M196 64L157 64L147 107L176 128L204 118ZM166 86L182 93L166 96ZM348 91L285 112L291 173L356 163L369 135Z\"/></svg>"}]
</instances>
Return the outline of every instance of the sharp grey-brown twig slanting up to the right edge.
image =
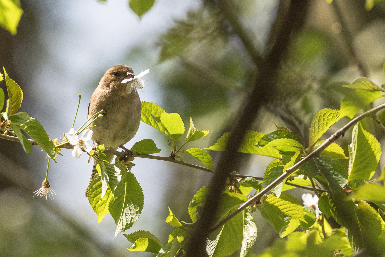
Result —
<instances>
[{"instance_id":1,"label":"sharp grey-brown twig slanting up to the right edge","mask_svg":"<svg viewBox=\"0 0 385 257\"><path fill-rule=\"evenodd\" d=\"M235 217L238 213L242 212L244 209L246 209L246 207L251 205L253 202L257 202L257 201L261 200L261 198L264 195L266 195L266 193L268 193L268 191L270 191L271 189L275 188L275 186L277 186L279 183L281 183L281 181L285 180L285 178L290 176L291 173L293 173L294 171L298 170L298 168L300 168L302 165L304 165L305 163L307 163L308 161L313 159L313 157L316 157L316 156L320 155L320 153L326 147L328 147L331 143L333 143L338 138L340 138L340 136L345 135L346 131L349 128L351 128L353 125L355 125L358 121L360 121L360 120L362 120L363 118L366 118L366 117L371 117L373 115L373 113L377 113L378 111L380 111L380 110L382 110L384 108L385 108L385 104L380 104L379 106L377 106L377 107L375 107L373 109L370 109L369 111L367 111L367 112L361 114L360 116L352 119L348 124L346 124L341 129L337 130L334 134L332 134L330 136L330 138L326 139L317 149L315 149L314 151L309 153L309 155L307 155L305 158L303 158L300 161L298 161L298 163L295 163L293 166L288 168L286 170L286 173L283 173L276 180L274 180L270 185L266 186L262 191L260 191L254 197L250 198L249 200L244 202L241 206L239 206L239 208L237 210L235 210L233 213L229 214L226 218L224 218L223 220L218 222L216 225L211 227L210 231L213 232L213 231L217 230L219 227L221 227L221 225L223 225L224 223L226 223L229 220L231 220L231 218Z\"/></svg>"}]
</instances>

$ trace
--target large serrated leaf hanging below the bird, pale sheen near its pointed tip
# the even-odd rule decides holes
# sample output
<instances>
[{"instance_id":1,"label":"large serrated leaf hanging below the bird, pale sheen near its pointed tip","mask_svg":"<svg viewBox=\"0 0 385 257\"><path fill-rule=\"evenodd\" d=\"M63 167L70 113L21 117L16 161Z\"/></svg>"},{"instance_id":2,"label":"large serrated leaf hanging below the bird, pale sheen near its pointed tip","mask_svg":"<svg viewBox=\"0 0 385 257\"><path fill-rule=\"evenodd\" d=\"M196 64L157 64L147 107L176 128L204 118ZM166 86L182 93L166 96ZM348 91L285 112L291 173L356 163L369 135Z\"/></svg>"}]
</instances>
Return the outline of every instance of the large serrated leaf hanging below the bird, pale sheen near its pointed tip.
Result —
<instances>
[{"instance_id":1,"label":"large serrated leaf hanging below the bird, pale sheen near its pointed tip","mask_svg":"<svg viewBox=\"0 0 385 257\"><path fill-rule=\"evenodd\" d=\"M119 232L130 228L142 212L144 195L139 182L131 172L122 172L122 179L115 189L115 200L108 209L117 225L115 237Z\"/></svg>"}]
</instances>

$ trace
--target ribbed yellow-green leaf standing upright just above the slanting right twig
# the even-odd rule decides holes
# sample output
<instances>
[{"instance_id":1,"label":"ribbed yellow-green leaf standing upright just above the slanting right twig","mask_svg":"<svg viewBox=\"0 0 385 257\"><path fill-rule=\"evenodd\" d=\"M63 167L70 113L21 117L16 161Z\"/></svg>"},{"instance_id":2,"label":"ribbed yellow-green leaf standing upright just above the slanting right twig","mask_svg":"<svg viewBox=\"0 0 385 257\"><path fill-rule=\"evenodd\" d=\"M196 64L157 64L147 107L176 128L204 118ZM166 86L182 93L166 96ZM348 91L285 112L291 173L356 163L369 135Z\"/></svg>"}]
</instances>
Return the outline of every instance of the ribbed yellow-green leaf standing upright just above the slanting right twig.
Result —
<instances>
[{"instance_id":1,"label":"ribbed yellow-green leaf standing upright just above the slanting right twig","mask_svg":"<svg viewBox=\"0 0 385 257\"><path fill-rule=\"evenodd\" d=\"M313 117L309 131L309 146L312 146L318 139L338 120L340 110L321 109Z\"/></svg>"}]
</instances>

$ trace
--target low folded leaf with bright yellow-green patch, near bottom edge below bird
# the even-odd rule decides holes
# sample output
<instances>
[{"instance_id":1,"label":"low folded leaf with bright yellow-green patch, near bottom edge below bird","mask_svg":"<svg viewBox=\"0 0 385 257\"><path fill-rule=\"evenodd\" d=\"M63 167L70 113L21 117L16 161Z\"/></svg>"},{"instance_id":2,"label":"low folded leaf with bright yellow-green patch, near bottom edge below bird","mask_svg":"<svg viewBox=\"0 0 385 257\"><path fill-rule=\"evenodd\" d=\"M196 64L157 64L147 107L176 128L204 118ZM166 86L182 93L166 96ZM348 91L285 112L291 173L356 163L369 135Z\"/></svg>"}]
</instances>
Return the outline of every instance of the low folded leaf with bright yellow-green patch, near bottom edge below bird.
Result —
<instances>
[{"instance_id":1,"label":"low folded leaf with bright yellow-green patch, near bottom edge below bird","mask_svg":"<svg viewBox=\"0 0 385 257\"><path fill-rule=\"evenodd\" d=\"M139 230L124 236L133 244L128 249L131 252L151 252L157 254L163 247L161 240L148 231Z\"/></svg>"}]
</instances>

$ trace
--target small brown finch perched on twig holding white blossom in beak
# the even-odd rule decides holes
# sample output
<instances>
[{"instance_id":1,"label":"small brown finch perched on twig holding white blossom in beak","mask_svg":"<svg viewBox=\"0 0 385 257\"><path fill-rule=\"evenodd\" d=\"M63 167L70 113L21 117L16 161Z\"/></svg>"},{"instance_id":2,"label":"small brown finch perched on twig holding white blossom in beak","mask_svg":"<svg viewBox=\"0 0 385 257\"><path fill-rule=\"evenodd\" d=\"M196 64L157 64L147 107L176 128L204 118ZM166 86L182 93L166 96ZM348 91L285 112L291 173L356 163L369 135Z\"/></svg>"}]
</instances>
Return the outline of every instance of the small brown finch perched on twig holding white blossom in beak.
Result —
<instances>
[{"instance_id":1,"label":"small brown finch perched on twig holding white blossom in beak","mask_svg":"<svg viewBox=\"0 0 385 257\"><path fill-rule=\"evenodd\" d=\"M92 94L88 118L101 110L105 111L103 118L92 123L92 126L96 125L92 128L94 146L104 144L105 149L116 151L135 136L141 121L142 106L139 94L131 85L136 82L133 81L135 80L133 72L131 67L126 65L110 67ZM106 155L111 163L114 155ZM96 173L95 161L90 182ZM89 184L85 191L86 197L88 187Z\"/></svg>"}]
</instances>

